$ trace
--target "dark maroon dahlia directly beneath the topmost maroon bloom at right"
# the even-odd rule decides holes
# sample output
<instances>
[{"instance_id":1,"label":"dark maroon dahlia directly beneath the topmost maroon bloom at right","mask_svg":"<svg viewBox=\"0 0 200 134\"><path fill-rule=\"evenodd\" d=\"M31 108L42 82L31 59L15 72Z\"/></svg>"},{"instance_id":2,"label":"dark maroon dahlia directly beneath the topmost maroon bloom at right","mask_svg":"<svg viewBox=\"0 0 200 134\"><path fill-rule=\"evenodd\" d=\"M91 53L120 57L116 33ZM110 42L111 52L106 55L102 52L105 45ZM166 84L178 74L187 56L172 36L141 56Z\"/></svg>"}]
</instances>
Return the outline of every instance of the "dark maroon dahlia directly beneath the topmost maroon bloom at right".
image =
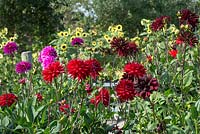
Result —
<instances>
[{"instance_id":1,"label":"dark maroon dahlia directly beneath the topmost maroon bloom at right","mask_svg":"<svg viewBox=\"0 0 200 134\"><path fill-rule=\"evenodd\" d=\"M181 31L176 39L176 44L187 43L191 47L198 44L198 38L190 31Z\"/></svg>"}]
</instances>

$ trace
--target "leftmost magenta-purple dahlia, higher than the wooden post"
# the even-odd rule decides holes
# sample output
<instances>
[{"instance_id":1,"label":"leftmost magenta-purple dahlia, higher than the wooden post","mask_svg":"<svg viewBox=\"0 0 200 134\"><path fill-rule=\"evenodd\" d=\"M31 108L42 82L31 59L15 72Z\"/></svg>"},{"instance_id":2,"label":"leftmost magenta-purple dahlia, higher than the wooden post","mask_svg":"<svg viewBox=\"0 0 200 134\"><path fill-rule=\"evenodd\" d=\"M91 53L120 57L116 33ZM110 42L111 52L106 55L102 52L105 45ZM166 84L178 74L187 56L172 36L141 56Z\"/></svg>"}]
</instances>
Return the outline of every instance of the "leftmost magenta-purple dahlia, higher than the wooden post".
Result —
<instances>
[{"instance_id":1,"label":"leftmost magenta-purple dahlia, higher than the wooden post","mask_svg":"<svg viewBox=\"0 0 200 134\"><path fill-rule=\"evenodd\" d=\"M15 42L8 42L4 47L3 47L3 52L6 55L13 55L14 52L16 52L18 49L18 46Z\"/></svg>"}]
</instances>

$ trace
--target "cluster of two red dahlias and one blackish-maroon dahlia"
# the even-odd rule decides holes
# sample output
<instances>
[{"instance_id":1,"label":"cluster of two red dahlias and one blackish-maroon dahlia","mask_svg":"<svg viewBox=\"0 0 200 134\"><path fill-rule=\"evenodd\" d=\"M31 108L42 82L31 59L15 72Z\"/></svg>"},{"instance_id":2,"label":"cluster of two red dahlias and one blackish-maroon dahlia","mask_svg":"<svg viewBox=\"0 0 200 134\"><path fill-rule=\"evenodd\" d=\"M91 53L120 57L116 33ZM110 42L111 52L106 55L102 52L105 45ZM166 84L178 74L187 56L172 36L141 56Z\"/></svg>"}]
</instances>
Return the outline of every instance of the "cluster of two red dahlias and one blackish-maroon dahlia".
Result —
<instances>
[{"instance_id":1,"label":"cluster of two red dahlias and one blackish-maroon dahlia","mask_svg":"<svg viewBox=\"0 0 200 134\"><path fill-rule=\"evenodd\" d=\"M156 78L146 74L142 64L131 62L124 66L123 78L115 88L121 102L133 100L135 96L148 98L153 91L158 90Z\"/></svg>"}]
</instances>

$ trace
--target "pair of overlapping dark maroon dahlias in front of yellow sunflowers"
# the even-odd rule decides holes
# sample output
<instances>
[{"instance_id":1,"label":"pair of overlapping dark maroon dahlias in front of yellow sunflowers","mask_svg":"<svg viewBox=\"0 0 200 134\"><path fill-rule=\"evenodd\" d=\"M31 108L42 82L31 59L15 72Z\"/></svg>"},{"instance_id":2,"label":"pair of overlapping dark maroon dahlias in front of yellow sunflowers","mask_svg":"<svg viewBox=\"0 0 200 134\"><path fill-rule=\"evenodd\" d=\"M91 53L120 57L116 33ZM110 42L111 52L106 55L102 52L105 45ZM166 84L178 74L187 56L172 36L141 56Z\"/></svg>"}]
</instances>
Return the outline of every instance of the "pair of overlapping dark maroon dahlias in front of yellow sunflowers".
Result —
<instances>
[{"instance_id":1,"label":"pair of overlapping dark maroon dahlias in front of yellow sunflowers","mask_svg":"<svg viewBox=\"0 0 200 134\"><path fill-rule=\"evenodd\" d=\"M111 48L119 56L130 56L138 52L135 42L129 42L122 37L114 37L110 42Z\"/></svg>"}]
</instances>

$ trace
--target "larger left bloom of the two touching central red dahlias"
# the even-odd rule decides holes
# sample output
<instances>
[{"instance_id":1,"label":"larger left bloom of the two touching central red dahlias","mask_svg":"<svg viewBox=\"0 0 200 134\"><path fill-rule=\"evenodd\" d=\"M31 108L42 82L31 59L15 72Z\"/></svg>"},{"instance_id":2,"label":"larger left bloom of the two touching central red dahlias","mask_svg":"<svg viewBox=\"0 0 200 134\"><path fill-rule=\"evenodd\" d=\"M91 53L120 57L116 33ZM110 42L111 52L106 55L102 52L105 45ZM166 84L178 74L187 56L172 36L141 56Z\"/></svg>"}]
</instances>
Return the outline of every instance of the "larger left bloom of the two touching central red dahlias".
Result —
<instances>
[{"instance_id":1,"label":"larger left bloom of the two touching central red dahlias","mask_svg":"<svg viewBox=\"0 0 200 134\"><path fill-rule=\"evenodd\" d=\"M90 74L90 67L83 60L73 59L70 60L66 66L68 74L73 79L78 79L78 81L82 81L86 79Z\"/></svg>"}]
</instances>

